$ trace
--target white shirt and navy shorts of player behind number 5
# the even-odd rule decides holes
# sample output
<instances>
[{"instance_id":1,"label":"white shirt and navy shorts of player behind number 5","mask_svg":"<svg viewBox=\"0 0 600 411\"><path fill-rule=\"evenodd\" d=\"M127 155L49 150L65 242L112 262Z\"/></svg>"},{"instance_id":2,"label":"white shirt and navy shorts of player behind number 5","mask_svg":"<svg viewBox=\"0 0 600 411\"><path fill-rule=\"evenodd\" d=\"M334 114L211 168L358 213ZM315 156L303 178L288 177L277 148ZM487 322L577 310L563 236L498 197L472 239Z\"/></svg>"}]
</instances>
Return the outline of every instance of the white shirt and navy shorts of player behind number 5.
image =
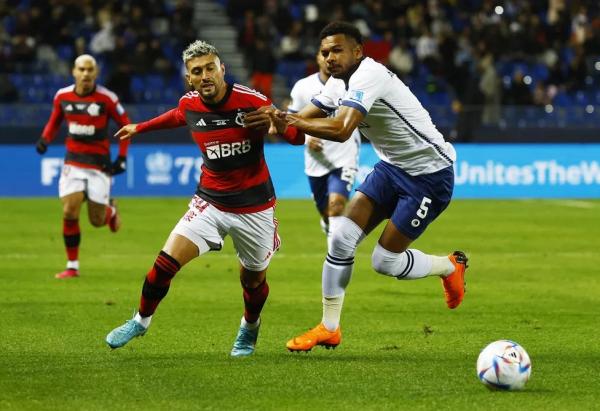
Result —
<instances>
[{"instance_id":1,"label":"white shirt and navy shorts of player behind number 5","mask_svg":"<svg viewBox=\"0 0 600 411\"><path fill-rule=\"evenodd\" d=\"M292 88L292 102L288 111L296 113L307 106L311 99L321 93L325 83L319 73L298 80ZM344 90L342 80L331 79L330 87ZM308 141L308 139L307 139ZM343 143L321 140L322 151L304 148L304 172L308 176L313 198L320 212L327 208L330 193L350 195L354 185L354 177L358 170L358 155L360 149L360 133L354 130L352 136Z\"/></svg>"}]
</instances>

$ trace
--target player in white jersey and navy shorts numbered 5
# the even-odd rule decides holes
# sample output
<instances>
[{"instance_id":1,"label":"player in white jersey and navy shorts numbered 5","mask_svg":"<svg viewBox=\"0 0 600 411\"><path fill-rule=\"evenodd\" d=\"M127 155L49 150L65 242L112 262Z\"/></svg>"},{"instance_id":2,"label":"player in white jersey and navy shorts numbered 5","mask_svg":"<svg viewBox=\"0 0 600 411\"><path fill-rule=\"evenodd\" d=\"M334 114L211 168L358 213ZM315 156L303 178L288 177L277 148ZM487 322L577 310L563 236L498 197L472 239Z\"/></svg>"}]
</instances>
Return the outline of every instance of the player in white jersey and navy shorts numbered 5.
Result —
<instances>
[{"instance_id":1,"label":"player in white jersey and navy shorts numbered 5","mask_svg":"<svg viewBox=\"0 0 600 411\"><path fill-rule=\"evenodd\" d=\"M284 119L306 134L346 141L360 127L380 158L332 232L323 264L323 317L310 331L288 341L291 351L341 341L340 316L360 241L389 219L372 254L373 269L399 280L439 276L449 308L464 296L467 258L461 251L433 256L409 248L448 205L456 153L408 87L383 65L363 56L360 32L334 22L320 35L321 54L334 79L298 114L271 110L272 127ZM335 117L327 117L337 111Z\"/></svg>"}]
</instances>

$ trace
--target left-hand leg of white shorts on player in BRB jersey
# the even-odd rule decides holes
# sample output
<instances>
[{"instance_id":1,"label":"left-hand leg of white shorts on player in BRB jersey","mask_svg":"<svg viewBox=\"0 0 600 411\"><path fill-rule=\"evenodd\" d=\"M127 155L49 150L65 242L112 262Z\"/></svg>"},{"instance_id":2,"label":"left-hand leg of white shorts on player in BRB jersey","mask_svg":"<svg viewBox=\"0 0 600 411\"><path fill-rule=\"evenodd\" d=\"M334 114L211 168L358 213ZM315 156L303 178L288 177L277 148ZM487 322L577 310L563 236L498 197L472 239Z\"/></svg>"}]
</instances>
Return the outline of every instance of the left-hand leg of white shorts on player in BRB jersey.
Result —
<instances>
[{"instance_id":1,"label":"left-hand leg of white shorts on player in BRB jersey","mask_svg":"<svg viewBox=\"0 0 600 411\"><path fill-rule=\"evenodd\" d=\"M165 252L170 240L184 237L196 245L196 255L204 254L211 250L220 250L223 247L227 227L224 213L198 196L192 197L188 204L187 212L175 225L165 244ZM179 261L179 260L178 260Z\"/></svg>"}]
</instances>

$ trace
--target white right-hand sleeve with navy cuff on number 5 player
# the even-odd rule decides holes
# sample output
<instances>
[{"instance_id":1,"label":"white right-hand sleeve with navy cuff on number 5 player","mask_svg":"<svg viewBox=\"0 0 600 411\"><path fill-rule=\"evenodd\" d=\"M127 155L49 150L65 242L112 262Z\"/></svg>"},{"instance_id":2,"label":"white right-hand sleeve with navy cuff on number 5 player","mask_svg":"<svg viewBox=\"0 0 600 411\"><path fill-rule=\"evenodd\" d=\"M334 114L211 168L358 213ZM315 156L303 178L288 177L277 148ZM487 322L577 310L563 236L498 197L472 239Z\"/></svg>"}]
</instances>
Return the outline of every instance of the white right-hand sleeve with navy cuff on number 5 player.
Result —
<instances>
[{"instance_id":1,"label":"white right-hand sleeve with navy cuff on number 5 player","mask_svg":"<svg viewBox=\"0 0 600 411\"><path fill-rule=\"evenodd\" d=\"M385 77L384 77L385 76ZM352 107L367 115L375 100L382 97L387 87L388 74L377 68L359 69L350 77L348 91L342 98L342 106Z\"/></svg>"}]
</instances>

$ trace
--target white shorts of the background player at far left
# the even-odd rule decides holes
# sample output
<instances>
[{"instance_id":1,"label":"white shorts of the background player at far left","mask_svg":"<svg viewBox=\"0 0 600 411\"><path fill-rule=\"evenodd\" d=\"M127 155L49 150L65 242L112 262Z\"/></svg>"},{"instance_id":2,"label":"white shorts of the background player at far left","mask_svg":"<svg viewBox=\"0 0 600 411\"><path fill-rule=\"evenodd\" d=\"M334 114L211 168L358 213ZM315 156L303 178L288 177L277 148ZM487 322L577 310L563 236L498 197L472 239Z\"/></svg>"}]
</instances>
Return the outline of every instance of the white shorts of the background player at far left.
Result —
<instances>
[{"instance_id":1,"label":"white shorts of the background player at far left","mask_svg":"<svg viewBox=\"0 0 600 411\"><path fill-rule=\"evenodd\" d=\"M94 168L63 165L58 180L58 196L85 192L90 201L108 204L110 196L110 176Z\"/></svg>"}]
</instances>

